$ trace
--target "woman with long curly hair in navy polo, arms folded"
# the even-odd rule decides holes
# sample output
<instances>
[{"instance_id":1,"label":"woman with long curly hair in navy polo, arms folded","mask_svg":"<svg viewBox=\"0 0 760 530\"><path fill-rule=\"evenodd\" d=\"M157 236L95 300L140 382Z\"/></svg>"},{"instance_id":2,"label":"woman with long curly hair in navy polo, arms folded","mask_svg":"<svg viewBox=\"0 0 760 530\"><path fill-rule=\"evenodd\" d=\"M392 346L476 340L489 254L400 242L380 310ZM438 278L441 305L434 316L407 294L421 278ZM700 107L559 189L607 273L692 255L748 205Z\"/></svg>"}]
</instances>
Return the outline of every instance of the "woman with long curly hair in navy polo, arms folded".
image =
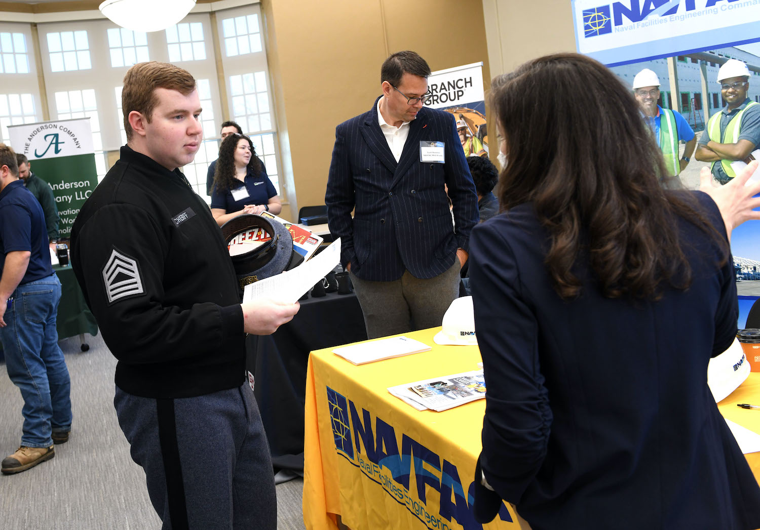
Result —
<instances>
[{"instance_id":1,"label":"woman with long curly hair in navy polo, arms folded","mask_svg":"<svg viewBox=\"0 0 760 530\"><path fill-rule=\"evenodd\" d=\"M219 150L211 191L211 215L219 226L243 213L282 210L277 190L267 176L264 162L256 156L251 139L230 134Z\"/></svg>"}]
</instances>

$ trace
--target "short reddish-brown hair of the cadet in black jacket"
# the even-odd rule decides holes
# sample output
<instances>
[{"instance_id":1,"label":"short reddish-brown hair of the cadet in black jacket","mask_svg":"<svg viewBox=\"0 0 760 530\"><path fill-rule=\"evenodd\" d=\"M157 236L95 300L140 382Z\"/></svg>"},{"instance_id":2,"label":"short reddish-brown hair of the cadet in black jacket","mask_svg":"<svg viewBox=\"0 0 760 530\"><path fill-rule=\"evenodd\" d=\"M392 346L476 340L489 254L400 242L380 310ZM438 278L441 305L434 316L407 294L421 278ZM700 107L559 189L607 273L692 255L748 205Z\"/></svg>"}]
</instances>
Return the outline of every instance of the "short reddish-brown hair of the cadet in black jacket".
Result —
<instances>
[{"instance_id":1,"label":"short reddish-brown hair of the cadet in black jacket","mask_svg":"<svg viewBox=\"0 0 760 530\"><path fill-rule=\"evenodd\" d=\"M187 96L195 90L195 78L184 68L166 62L141 62L129 68L122 90L122 115L127 141L131 140L134 132L129 125L129 113L136 110L150 123L153 109L158 104L157 88L176 90Z\"/></svg>"}]
</instances>

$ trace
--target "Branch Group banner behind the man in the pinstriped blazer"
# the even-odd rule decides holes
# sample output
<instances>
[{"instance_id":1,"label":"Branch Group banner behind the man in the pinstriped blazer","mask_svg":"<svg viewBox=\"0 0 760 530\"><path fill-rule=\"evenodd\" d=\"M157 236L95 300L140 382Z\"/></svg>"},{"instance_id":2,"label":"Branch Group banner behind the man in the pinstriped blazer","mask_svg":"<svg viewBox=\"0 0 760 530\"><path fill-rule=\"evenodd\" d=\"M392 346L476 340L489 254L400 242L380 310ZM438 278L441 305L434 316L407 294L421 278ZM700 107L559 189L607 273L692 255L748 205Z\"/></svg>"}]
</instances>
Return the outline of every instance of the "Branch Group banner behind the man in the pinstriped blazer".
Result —
<instances>
[{"instance_id":1,"label":"Branch Group banner behind the man in the pinstriped blazer","mask_svg":"<svg viewBox=\"0 0 760 530\"><path fill-rule=\"evenodd\" d=\"M469 136L477 138L487 153L483 62L432 72L428 77L428 93L431 99L426 106L448 112L454 115L457 121L464 121Z\"/></svg>"}]
</instances>

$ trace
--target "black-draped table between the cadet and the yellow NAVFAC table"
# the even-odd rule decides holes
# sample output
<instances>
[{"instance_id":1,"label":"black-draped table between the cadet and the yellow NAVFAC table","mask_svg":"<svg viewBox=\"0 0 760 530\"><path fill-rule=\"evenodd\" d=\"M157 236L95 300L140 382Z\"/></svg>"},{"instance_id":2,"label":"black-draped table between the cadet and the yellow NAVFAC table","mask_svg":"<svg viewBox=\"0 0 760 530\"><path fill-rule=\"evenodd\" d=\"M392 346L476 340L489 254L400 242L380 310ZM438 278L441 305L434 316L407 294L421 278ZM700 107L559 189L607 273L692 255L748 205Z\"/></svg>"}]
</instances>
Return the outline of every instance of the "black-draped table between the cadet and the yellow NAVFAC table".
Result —
<instances>
[{"instance_id":1,"label":"black-draped table between the cadet and the yellow NAVFAC table","mask_svg":"<svg viewBox=\"0 0 760 530\"><path fill-rule=\"evenodd\" d=\"M273 335L249 336L246 367L255 377L254 394L275 468L303 469L309 352L366 338L356 295L337 292L302 300L296 317Z\"/></svg>"}]
</instances>

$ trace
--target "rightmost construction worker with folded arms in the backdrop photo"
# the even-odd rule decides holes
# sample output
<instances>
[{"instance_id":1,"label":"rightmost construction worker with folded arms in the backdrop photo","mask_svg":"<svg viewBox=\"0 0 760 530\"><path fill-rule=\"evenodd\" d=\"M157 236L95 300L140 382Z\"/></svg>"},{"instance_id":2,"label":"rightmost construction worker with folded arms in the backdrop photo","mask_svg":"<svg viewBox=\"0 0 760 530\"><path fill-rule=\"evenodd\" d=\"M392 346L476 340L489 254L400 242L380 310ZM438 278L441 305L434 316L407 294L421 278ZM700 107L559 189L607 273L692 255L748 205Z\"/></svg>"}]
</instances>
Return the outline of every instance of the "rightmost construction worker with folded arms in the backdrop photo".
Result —
<instances>
[{"instance_id":1,"label":"rightmost construction worker with folded arms in the backdrop photo","mask_svg":"<svg viewBox=\"0 0 760 530\"><path fill-rule=\"evenodd\" d=\"M749 68L729 59L717 71L720 94L727 105L708 120L699 138L696 157L712 162L713 178L726 184L736 176L734 160L745 160L760 141L760 105L750 101Z\"/></svg>"}]
</instances>

